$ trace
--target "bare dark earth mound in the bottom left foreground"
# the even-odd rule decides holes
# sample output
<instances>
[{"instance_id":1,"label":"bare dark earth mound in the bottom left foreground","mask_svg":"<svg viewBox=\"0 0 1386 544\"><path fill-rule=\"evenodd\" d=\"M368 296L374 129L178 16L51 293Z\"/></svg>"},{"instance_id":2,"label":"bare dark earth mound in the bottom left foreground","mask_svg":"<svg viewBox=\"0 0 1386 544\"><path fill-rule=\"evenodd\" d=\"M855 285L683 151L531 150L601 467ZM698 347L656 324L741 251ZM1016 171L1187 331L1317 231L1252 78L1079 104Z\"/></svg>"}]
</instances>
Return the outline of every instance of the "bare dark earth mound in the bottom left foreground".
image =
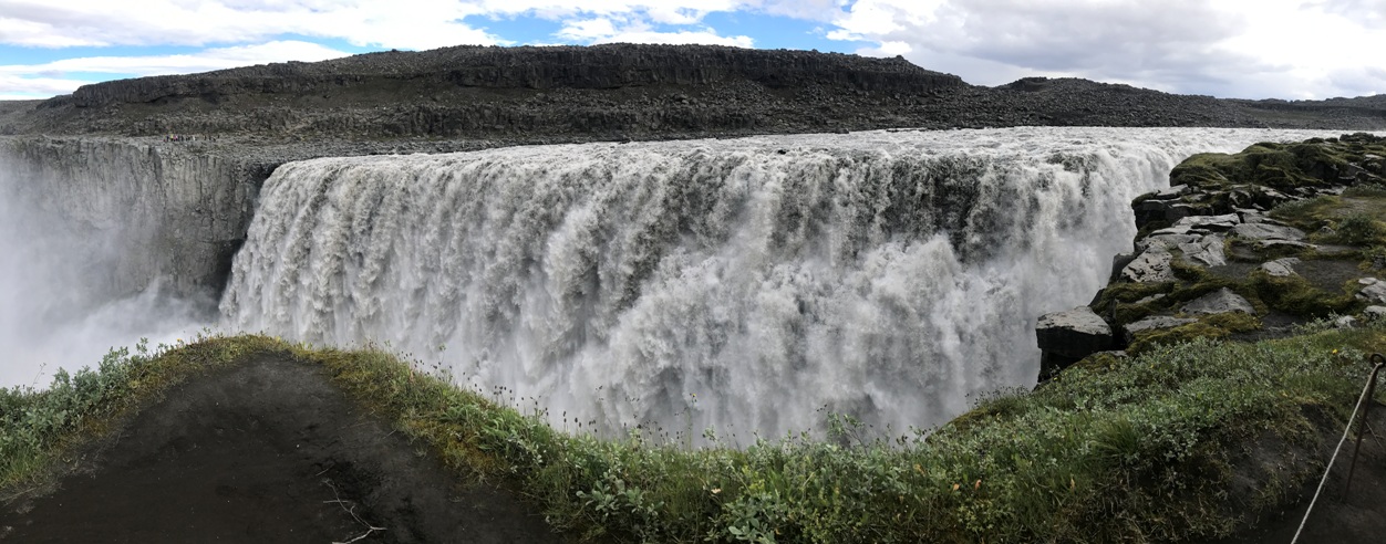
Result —
<instances>
[{"instance_id":1,"label":"bare dark earth mound in the bottom left foreground","mask_svg":"<svg viewBox=\"0 0 1386 544\"><path fill-rule=\"evenodd\" d=\"M550 543L510 491L460 483L324 370L273 357L191 379L8 497L3 543ZM376 530L378 529L378 530Z\"/></svg>"}]
</instances>

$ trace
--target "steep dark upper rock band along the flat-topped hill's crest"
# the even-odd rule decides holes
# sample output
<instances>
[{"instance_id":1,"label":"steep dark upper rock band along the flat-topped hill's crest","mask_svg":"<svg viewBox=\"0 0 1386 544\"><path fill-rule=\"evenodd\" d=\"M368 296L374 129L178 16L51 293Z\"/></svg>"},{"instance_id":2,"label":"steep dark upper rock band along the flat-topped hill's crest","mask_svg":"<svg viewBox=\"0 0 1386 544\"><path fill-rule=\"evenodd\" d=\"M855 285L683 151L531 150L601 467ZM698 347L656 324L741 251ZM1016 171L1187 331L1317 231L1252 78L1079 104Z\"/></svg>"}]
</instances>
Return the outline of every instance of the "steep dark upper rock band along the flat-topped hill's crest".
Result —
<instances>
[{"instance_id":1,"label":"steep dark upper rock band along the flat-topped hill's crest","mask_svg":"<svg viewBox=\"0 0 1386 544\"><path fill-rule=\"evenodd\" d=\"M78 107L152 102L245 91L305 93L369 78L423 79L481 89L618 89L707 86L748 80L769 89L814 84L875 93L929 93L966 86L960 78L902 58L736 47L445 47L423 53L373 53L326 62L236 68L195 76L141 78L85 86Z\"/></svg>"}]
</instances>

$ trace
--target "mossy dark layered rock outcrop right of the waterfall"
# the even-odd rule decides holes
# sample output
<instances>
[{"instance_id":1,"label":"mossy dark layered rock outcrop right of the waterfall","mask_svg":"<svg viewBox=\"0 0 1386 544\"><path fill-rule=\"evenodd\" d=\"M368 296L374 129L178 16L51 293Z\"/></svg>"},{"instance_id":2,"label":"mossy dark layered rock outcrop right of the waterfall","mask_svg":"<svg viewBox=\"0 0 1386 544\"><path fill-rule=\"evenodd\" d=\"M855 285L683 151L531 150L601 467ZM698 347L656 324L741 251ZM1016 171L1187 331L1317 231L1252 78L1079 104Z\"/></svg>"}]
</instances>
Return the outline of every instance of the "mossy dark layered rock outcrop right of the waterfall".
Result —
<instances>
[{"instance_id":1,"label":"mossy dark layered rock outcrop right of the waterfall","mask_svg":"<svg viewBox=\"0 0 1386 544\"><path fill-rule=\"evenodd\" d=\"M1132 202L1137 253L1113 260L1089 306L1110 309L1100 318L1132 354L1198 336L1275 338L1335 314L1342 324L1379 318L1380 156L1386 138L1357 133L1189 158L1170 173L1171 188ZM1037 335L1052 334L1045 328ZM1076 354L1051 345L1041 341L1041 381Z\"/></svg>"}]
</instances>

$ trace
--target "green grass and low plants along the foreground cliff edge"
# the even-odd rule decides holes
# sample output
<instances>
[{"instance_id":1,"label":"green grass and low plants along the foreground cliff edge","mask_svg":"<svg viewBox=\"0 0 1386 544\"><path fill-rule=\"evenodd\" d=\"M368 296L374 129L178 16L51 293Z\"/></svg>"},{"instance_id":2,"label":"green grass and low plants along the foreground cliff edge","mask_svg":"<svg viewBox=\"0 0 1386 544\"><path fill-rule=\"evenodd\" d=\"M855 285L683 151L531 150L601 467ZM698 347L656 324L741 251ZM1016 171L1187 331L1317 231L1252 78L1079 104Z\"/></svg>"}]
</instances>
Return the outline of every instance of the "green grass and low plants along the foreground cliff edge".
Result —
<instances>
[{"instance_id":1,"label":"green grass and low plants along the foreground cliff edge","mask_svg":"<svg viewBox=\"0 0 1386 544\"><path fill-rule=\"evenodd\" d=\"M1200 338L1080 363L1035 392L990 396L942 428L895 440L861 439L858 424L830 417L827 436L693 448L638 433L560 432L377 349L212 336L112 352L96 370L60 372L49 389L0 393L0 489L40 484L65 453L168 388L269 354L324 365L459 478L503 482L581 538L1179 540L1227 534L1317 473L1246 473L1238 461L1267 444L1299 458L1318 451L1319 425L1346 418L1365 354L1383 349L1379 325L1254 345ZM1254 484L1229 493L1238 475Z\"/></svg>"}]
</instances>

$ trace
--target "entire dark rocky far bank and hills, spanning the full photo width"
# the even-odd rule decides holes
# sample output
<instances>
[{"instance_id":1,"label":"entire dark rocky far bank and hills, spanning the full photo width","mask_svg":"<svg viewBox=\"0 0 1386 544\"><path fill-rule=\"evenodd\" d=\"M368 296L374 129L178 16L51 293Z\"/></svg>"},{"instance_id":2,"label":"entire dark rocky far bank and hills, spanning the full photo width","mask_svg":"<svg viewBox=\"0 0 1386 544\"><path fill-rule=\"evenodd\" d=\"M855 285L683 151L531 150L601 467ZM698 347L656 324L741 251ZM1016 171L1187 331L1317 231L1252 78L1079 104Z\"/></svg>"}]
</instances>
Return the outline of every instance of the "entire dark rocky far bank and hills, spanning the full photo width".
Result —
<instances>
[{"instance_id":1,"label":"entire dark rocky far bank and hills, spanning the full photo width","mask_svg":"<svg viewBox=\"0 0 1386 544\"><path fill-rule=\"evenodd\" d=\"M718 46L384 51L89 84L0 107L0 134L658 140L890 127L1376 130L1382 97L1220 100L1082 79L997 87L904 58Z\"/></svg>"}]
</instances>

